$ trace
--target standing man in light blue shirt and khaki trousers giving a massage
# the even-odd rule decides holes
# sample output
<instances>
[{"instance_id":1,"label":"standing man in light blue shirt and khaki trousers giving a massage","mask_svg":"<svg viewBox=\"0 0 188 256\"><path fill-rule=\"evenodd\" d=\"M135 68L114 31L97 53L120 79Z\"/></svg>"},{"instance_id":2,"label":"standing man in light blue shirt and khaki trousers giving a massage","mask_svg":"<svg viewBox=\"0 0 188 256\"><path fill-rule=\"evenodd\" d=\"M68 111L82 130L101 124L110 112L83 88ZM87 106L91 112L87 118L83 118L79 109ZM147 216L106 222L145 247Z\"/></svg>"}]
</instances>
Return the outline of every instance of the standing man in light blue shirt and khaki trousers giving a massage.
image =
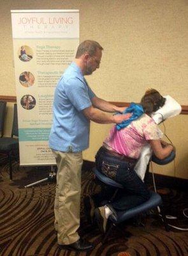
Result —
<instances>
[{"instance_id":1,"label":"standing man in light blue shirt and khaki trousers giving a massage","mask_svg":"<svg viewBox=\"0 0 188 256\"><path fill-rule=\"evenodd\" d=\"M103 47L86 40L78 46L76 58L62 75L54 95L54 120L49 145L57 163L55 191L55 230L57 242L69 250L90 250L93 245L78 235L80 226L80 191L82 150L89 147L90 120L100 124L120 124L129 115L106 115L122 112L99 99L84 76L99 68Z\"/></svg>"}]
</instances>

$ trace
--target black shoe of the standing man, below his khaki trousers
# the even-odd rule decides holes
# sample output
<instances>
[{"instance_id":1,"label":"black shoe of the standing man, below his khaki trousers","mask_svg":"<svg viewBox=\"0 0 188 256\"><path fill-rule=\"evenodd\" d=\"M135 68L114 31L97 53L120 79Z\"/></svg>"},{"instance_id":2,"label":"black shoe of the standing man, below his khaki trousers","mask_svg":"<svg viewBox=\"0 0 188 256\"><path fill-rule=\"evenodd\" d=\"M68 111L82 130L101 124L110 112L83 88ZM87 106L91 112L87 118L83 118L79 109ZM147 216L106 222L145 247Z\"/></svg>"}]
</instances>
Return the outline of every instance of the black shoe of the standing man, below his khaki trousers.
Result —
<instances>
[{"instance_id":1,"label":"black shoe of the standing man, below his khaki trousers","mask_svg":"<svg viewBox=\"0 0 188 256\"><path fill-rule=\"evenodd\" d=\"M94 244L89 243L80 238L78 241L72 244L66 244L66 245L59 244L59 248L65 249L65 250L71 250L71 251L89 251L94 248Z\"/></svg>"}]
</instances>

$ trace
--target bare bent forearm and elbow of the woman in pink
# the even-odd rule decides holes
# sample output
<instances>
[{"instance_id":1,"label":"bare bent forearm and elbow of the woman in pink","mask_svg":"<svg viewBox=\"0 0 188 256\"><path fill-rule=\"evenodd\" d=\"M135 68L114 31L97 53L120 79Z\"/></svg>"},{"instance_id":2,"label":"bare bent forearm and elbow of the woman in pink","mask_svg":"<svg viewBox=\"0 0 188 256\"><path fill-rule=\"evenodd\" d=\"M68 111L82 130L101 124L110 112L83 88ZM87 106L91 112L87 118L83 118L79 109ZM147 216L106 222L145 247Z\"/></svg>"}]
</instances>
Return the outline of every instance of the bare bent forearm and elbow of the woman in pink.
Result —
<instances>
[{"instance_id":1,"label":"bare bent forearm and elbow of the woman in pink","mask_svg":"<svg viewBox=\"0 0 188 256\"><path fill-rule=\"evenodd\" d=\"M163 144L161 140L150 140L150 145L155 156L159 159L164 159L170 155L174 147L168 143Z\"/></svg>"}]
</instances>

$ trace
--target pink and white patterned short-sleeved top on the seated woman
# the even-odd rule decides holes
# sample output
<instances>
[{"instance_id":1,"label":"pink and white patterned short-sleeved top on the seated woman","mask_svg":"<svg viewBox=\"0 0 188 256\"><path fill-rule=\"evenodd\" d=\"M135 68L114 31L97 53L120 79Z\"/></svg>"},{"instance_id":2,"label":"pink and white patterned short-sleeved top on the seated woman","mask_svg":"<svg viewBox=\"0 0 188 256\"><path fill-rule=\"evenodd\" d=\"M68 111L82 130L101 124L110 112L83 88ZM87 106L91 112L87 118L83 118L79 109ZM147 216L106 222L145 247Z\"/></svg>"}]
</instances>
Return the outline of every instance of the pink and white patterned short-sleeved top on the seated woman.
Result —
<instances>
[{"instance_id":1,"label":"pink and white patterned short-sleeved top on the seated woman","mask_svg":"<svg viewBox=\"0 0 188 256\"><path fill-rule=\"evenodd\" d=\"M120 131L117 131L114 125L103 145L109 150L137 159L148 140L160 140L162 137L163 132L154 120L143 114Z\"/></svg>"}]
</instances>

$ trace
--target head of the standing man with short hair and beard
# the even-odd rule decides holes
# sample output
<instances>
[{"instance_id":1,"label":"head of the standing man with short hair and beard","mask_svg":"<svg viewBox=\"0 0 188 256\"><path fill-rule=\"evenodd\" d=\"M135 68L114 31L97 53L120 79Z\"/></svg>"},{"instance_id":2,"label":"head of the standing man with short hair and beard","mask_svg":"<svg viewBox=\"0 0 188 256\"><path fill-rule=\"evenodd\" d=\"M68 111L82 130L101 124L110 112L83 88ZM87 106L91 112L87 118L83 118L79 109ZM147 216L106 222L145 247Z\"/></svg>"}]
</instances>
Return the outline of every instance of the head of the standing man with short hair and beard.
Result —
<instances>
[{"instance_id":1,"label":"head of the standing man with short hair and beard","mask_svg":"<svg viewBox=\"0 0 188 256\"><path fill-rule=\"evenodd\" d=\"M83 41L77 49L76 61L82 69L83 75L90 75L99 68L103 47L92 40Z\"/></svg>"}]
</instances>

